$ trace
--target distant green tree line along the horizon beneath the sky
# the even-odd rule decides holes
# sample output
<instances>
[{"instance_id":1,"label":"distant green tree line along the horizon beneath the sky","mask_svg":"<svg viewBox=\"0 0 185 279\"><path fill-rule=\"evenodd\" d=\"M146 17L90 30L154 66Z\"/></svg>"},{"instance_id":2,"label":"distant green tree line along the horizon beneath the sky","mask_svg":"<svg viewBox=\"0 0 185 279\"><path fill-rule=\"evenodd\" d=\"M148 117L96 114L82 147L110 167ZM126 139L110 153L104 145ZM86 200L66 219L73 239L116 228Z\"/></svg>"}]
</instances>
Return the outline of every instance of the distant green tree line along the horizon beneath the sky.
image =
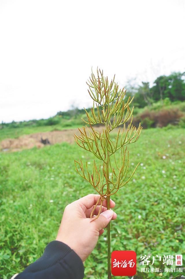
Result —
<instances>
[{"instance_id":1,"label":"distant green tree line along the horizon beneath the sky","mask_svg":"<svg viewBox=\"0 0 185 279\"><path fill-rule=\"evenodd\" d=\"M129 96L134 96L133 104L136 108L151 107L153 103L161 101L161 104L168 104L171 102L179 102L185 100L185 72L174 72L169 76L159 76L150 87L149 82L142 82L141 85L132 85L129 81L125 86L126 96L124 101L127 102ZM90 108L87 109L90 112ZM84 109L72 107L68 111L59 111L55 116L48 119L29 120L29 121L12 121L11 123L1 123L0 129L3 127L22 127L22 126L46 126L56 125L59 123L66 123L67 120L80 120L81 115L84 114ZM76 122L75 122L76 123ZM67 125L67 124L65 124ZM69 125L69 123L68 123ZM72 125L72 123L71 123Z\"/></svg>"}]
</instances>

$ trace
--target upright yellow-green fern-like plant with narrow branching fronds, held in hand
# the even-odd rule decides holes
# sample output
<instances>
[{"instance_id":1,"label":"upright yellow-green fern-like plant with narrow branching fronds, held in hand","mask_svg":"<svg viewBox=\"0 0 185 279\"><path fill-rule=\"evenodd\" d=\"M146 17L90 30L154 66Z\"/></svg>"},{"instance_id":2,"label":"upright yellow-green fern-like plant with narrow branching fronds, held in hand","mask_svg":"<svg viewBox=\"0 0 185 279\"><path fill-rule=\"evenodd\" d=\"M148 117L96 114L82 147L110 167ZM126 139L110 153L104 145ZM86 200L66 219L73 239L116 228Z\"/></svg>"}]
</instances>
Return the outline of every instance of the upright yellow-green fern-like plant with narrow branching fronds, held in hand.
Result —
<instances>
[{"instance_id":1,"label":"upright yellow-green fern-like plant with narrow branching fronds, held in hand","mask_svg":"<svg viewBox=\"0 0 185 279\"><path fill-rule=\"evenodd\" d=\"M119 89L119 85L114 82L114 78L109 83L108 78L103 76L103 71L97 69L97 77L92 72L90 80L87 82L88 93L93 100L91 115L85 109L88 121L82 119L86 125L79 129L79 136L74 135L76 143L81 148L92 152L97 159L102 161L101 164L97 165L94 160L90 171L87 161L86 164L83 164L82 160L79 162L75 160L75 167L79 175L86 179L100 195L91 212L91 221L99 217L104 199L107 201L107 209L110 209L110 196L116 194L120 188L130 181L139 165L138 163L132 175L127 178L129 170L127 145L138 140L142 127L139 124L138 129L136 129L132 125L134 107L130 109L130 104L134 97L132 99L129 97L125 103L126 90L124 88ZM95 124L103 125L102 132L95 130L93 127ZM119 126L117 136L115 140L112 140L110 132ZM116 160L115 153L119 149L121 150L120 158ZM113 164L115 167L112 167ZM99 213L97 216L93 216L99 202L101 204ZM107 227L107 241L108 279L110 279L110 223Z\"/></svg>"}]
</instances>

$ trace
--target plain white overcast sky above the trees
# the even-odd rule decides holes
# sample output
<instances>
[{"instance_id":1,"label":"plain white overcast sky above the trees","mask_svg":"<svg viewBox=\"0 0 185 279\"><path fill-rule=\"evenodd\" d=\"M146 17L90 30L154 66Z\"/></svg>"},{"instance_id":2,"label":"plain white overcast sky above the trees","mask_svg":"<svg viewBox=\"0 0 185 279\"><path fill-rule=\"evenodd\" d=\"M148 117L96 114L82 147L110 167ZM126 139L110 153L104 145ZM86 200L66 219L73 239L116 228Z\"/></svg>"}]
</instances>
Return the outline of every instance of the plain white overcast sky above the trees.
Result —
<instances>
[{"instance_id":1,"label":"plain white overcast sky above the trees","mask_svg":"<svg viewBox=\"0 0 185 279\"><path fill-rule=\"evenodd\" d=\"M185 68L185 0L0 0L0 121L91 107L91 67L123 87Z\"/></svg>"}]
</instances>

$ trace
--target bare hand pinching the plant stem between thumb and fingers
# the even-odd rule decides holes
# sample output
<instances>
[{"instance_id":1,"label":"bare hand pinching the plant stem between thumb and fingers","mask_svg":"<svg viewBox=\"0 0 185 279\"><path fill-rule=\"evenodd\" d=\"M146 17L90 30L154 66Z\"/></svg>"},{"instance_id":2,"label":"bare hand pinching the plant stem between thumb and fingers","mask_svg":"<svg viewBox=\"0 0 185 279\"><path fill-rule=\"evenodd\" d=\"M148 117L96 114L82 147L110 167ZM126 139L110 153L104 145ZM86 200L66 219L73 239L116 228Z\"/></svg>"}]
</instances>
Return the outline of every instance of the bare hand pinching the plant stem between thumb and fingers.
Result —
<instances>
[{"instance_id":1,"label":"bare hand pinching the plant stem between thumb and fingers","mask_svg":"<svg viewBox=\"0 0 185 279\"><path fill-rule=\"evenodd\" d=\"M104 200L101 214L96 220L90 222L90 214L99 197L99 195L89 194L67 205L56 238L73 249L82 261L86 260L95 248L98 237L104 232L103 228L111 219L117 217L115 212L107 210L106 200ZM110 200L110 208L114 206L114 201ZM95 215L98 214L99 208L100 202L94 212Z\"/></svg>"}]
</instances>

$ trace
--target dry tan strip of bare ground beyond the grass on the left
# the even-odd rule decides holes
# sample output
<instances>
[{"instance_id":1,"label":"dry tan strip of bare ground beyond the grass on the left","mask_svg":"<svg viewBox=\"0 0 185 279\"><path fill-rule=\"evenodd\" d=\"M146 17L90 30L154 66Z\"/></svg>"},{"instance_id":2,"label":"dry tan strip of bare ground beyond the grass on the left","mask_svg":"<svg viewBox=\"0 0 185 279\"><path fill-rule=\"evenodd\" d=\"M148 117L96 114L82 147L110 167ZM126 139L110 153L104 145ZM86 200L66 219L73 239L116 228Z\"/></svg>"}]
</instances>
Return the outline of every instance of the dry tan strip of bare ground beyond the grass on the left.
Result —
<instances>
[{"instance_id":1,"label":"dry tan strip of bare ground beyond the grass on the left","mask_svg":"<svg viewBox=\"0 0 185 279\"><path fill-rule=\"evenodd\" d=\"M101 131L101 127L96 127L97 131ZM44 132L44 133L35 133L31 135L23 135L18 139L4 139L1 142L1 150L4 152L14 152L20 151L23 149L29 149L36 146L37 148L41 148L45 146L41 143L42 139L49 139L50 144L56 144L61 142L74 142L73 134L79 135L78 129L69 129L62 131L52 131L52 132Z\"/></svg>"}]
</instances>

